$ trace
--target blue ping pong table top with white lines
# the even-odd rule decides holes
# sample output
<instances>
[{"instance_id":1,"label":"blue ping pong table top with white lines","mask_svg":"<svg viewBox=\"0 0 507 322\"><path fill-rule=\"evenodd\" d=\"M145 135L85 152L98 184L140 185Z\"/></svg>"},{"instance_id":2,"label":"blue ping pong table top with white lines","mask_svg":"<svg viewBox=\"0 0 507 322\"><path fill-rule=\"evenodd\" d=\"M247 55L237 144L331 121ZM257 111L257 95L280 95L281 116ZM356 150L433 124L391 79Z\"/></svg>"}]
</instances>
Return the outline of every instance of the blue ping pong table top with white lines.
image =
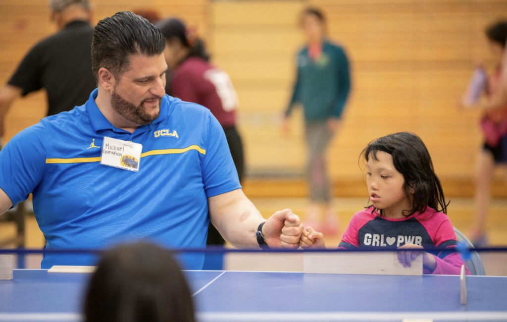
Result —
<instances>
[{"instance_id":1,"label":"blue ping pong table top with white lines","mask_svg":"<svg viewBox=\"0 0 507 322\"><path fill-rule=\"evenodd\" d=\"M459 276L185 273L199 321L507 321L507 277L466 277L461 305ZM90 276L14 270L0 280L0 321L80 321Z\"/></svg>"}]
</instances>

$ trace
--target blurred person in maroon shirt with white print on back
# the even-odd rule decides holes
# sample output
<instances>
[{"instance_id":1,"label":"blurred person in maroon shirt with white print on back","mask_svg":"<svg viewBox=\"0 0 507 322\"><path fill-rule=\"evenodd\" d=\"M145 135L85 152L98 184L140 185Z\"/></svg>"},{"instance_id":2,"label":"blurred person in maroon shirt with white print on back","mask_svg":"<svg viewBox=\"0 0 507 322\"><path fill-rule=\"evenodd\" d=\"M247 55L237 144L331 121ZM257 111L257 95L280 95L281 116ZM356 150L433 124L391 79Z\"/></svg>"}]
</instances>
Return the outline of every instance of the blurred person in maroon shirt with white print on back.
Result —
<instances>
[{"instance_id":1,"label":"blurred person in maroon shirt with white print on back","mask_svg":"<svg viewBox=\"0 0 507 322\"><path fill-rule=\"evenodd\" d=\"M157 27L166 41L165 60L171 69L172 79L166 92L184 101L208 108L224 129L239 181L244 174L244 157L241 137L236 130L238 97L225 71L209 63L204 42L195 30L175 18L164 19ZM220 233L209 224L208 245L223 245Z\"/></svg>"}]
</instances>

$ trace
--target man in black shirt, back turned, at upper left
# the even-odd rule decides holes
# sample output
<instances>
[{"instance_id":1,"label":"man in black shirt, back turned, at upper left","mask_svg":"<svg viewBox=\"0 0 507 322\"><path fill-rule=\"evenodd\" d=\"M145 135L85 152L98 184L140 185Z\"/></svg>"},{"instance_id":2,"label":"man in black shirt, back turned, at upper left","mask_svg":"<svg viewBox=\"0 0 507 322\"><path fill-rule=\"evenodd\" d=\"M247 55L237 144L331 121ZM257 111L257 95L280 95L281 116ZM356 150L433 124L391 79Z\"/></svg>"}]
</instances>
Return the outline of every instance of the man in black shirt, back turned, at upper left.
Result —
<instances>
[{"instance_id":1,"label":"man in black shirt, back turned, at upper left","mask_svg":"<svg viewBox=\"0 0 507 322\"><path fill-rule=\"evenodd\" d=\"M0 137L4 135L5 115L17 98L45 88L49 116L83 104L96 87L91 71L90 3L51 0L50 9L59 31L35 45L0 88Z\"/></svg>"}]
</instances>

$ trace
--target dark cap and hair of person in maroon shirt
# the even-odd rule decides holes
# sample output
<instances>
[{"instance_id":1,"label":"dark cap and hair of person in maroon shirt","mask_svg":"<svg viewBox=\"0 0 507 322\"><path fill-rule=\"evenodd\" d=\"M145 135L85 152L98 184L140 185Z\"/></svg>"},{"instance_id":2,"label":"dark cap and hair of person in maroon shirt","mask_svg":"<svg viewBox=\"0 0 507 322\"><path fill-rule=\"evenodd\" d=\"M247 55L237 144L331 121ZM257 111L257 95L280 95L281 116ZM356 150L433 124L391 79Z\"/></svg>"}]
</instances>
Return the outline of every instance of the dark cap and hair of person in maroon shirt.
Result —
<instances>
[{"instance_id":1,"label":"dark cap and hair of person in maroon shirt","mask_svg":"<svg viewBox=\"0 0 507 322\"><path fill-rule=\"evenodd\" d=\"M210 60L211 56L206 50L204 41L198 37L194 37L183 21L176 18L163 19L157 22L156 26L167 41L175 38L179 40L183 46L190 48L188 57L195 56L206 61Z\"/></svg>"}]
</instances>

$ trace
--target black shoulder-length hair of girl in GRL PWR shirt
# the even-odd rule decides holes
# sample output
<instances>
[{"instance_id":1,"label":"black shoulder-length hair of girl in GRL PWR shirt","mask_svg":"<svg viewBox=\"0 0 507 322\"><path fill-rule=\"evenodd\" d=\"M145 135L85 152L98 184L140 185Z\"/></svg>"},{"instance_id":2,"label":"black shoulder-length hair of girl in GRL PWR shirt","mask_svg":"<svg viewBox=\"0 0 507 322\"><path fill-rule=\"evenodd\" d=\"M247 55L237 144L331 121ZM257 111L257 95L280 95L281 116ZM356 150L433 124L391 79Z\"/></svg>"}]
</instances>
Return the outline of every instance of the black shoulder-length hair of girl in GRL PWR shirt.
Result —
<instances>
[{"instance_id":1,"label":"black shoulder-length hair of girl in GRL PWR shirt","mask_svg":"<svg viewBox=\"0 0 507 322\"><path fill-rule=\"evenodd\" d=\"M366 162L377 159L377 152L383 151L392 156L394 167L403 174L403 188L407 199L412 201L412 209L403 215L408 217L416 212L424 212L426 207L447 213L444 191L440 180L433 170L433 163L428 149L419 136L410 132L399 132L382 136L372 142L361 152ZM414 194L410 193L410 188ZM370 206L369 206L370 207ZM376 210L374 208L374 210ZM378 209L382 215L382 209Z\"/></svg>"}]
</instances>

